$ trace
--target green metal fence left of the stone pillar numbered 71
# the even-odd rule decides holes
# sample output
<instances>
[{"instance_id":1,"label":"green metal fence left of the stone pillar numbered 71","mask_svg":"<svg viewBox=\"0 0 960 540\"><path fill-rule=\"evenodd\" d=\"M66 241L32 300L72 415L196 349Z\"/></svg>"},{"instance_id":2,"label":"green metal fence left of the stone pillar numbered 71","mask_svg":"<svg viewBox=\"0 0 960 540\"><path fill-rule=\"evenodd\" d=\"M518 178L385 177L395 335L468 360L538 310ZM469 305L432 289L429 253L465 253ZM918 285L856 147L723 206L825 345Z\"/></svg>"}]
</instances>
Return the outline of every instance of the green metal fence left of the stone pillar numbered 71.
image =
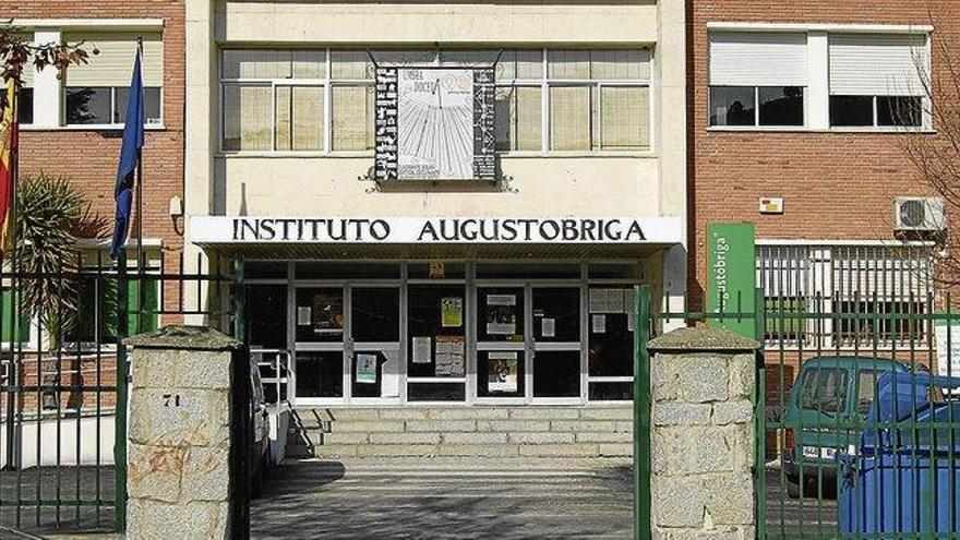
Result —
<instances>
[{"instance_id":1,"label":"green metal fence left of the stone pillar numbered 71","mask_svg":"<svg viewBox=\"0 0 960 540\"><path fill-rule=\"evenodd\" d=\"M0 271L0 528L125 530L123 339L191 315L227 332L242 327L235 316L242 299L231 300L242 296L233 275L242 263L236 272L227 262L192 263L157 251L127 264L89 250L58 273L22 272L15 261ZM38 287L71 291L76 309L29 311L23 298Z\"/></svg>"}]
</instances>

